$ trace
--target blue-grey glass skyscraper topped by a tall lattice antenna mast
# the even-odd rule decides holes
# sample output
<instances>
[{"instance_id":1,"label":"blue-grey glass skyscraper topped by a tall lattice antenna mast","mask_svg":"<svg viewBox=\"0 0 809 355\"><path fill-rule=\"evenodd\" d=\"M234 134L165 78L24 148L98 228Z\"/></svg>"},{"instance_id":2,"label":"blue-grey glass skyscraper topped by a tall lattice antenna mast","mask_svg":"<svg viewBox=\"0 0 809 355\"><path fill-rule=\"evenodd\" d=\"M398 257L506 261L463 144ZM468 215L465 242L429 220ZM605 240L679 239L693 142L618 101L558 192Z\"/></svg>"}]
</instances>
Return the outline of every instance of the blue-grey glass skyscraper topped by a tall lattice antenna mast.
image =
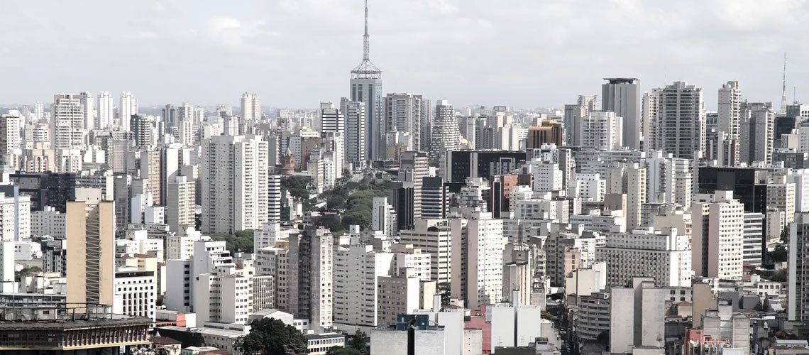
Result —
<instances>
[{"instance_id":1,"label":"blue-grey glass skyscraper topped by a tall lattice antenna mast","mask_svg":"<svg viewBox=\"0 0 809 355\"><path fill-rule=\"evenodd\" d=\"M385 126L382 114L382 70L369 57L368 1L365 2L365 35L362 41L362 61L351 70L349 92L351 101L361 101L366 107L366 151L371 160L384 156Z\"/></svg>"}]
</instances>

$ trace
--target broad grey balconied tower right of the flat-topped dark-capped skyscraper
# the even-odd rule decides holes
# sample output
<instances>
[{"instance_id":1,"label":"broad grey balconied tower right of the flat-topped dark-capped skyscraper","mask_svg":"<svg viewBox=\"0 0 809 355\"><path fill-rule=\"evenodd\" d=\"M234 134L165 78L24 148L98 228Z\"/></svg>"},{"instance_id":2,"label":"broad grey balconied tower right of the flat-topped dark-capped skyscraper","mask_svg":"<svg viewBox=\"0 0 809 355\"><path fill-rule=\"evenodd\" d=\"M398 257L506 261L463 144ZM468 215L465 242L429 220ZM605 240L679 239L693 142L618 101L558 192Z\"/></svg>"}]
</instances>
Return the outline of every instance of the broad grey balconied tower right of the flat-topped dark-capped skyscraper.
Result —
<instances>
[{"instance_id":1,"label":"broad grey balconied tower right of the flat-topped dark-capped skyscraper","mask_svg":"<svg viewBox=\"0 0 809 355\"><path fill-rule=\"evenodd\" d=\"M650 118L653 127L650 134L654 146L647 150L663 150L674 158L693 159L694 152L705 151L705 108L702 89L675 82L667 87L652 91L657 97L653 100L654 117ZM650 112L652 113L652 112Z\"/></svg>"}]
</instances>

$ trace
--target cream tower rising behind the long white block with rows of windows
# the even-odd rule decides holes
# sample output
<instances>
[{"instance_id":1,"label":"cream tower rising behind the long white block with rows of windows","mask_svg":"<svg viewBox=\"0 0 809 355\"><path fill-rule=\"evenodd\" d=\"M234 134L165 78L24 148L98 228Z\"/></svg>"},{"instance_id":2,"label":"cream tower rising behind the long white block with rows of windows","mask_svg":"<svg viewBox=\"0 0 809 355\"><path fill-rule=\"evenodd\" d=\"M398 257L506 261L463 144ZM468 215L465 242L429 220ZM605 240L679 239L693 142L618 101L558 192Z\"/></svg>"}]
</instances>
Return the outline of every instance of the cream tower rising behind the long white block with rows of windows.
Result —
<instances>
[{"instance_id":1,"label":"cream tower rising behind the long white block with rows of windows","mask_svg":"<svg viewBox=\"0 0 809 355\"><path fill-rule=\"evenodd\" d=\"M607 193L626 194L626 230L641 225L641 207L646 203L646 167L615 162L607 170Z\"/></svg>"}]
</instances>

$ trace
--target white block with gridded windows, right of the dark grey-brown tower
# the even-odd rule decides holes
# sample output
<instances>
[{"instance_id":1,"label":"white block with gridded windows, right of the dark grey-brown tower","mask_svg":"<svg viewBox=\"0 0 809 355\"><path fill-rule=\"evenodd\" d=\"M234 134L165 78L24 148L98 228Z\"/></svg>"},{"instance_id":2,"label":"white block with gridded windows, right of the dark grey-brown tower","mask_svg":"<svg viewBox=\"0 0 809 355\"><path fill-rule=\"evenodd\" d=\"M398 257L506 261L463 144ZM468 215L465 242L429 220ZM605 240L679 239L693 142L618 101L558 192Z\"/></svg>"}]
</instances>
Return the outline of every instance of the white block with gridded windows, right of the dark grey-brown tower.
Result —
<instances>
[{"instance_id":1,"label":"white block with gridded windows, right of the dark grey-brown tower","mask_svg":"<svg viewBox=\"0 0 809 355\"><path fill-rule=\"evenodd\" d=\"M334 323L377 325L378 277L393 273L393 253L371 245L337 247L334 251ZM413 311L413 310L410 310Z\"/></svg>"}]
</instances>

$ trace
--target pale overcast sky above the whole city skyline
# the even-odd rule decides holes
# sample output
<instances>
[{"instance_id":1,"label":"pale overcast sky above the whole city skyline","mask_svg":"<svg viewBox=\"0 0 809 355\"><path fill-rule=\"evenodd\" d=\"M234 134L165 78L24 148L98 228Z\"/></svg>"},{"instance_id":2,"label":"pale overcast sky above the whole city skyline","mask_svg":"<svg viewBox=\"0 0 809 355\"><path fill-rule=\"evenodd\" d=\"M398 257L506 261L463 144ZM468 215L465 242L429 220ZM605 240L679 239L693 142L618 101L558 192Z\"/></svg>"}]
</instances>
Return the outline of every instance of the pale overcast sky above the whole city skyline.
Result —
<instances>
[{"instance_id":1,"label":"pale overcast sky above the whole city skyline","mask_svg":"<svg viewBox=\"0 0 809 355\"><path fill-rule=\"evenodd\" d=\"M806 1L371 0L371 61L385 92L516 108L683 80L715 108L722 82L751 101L809 101ZM362 0L0 0L0 103L133 91L142 105L316 108L348 94Z\"/></svg>"}]
</instances>

